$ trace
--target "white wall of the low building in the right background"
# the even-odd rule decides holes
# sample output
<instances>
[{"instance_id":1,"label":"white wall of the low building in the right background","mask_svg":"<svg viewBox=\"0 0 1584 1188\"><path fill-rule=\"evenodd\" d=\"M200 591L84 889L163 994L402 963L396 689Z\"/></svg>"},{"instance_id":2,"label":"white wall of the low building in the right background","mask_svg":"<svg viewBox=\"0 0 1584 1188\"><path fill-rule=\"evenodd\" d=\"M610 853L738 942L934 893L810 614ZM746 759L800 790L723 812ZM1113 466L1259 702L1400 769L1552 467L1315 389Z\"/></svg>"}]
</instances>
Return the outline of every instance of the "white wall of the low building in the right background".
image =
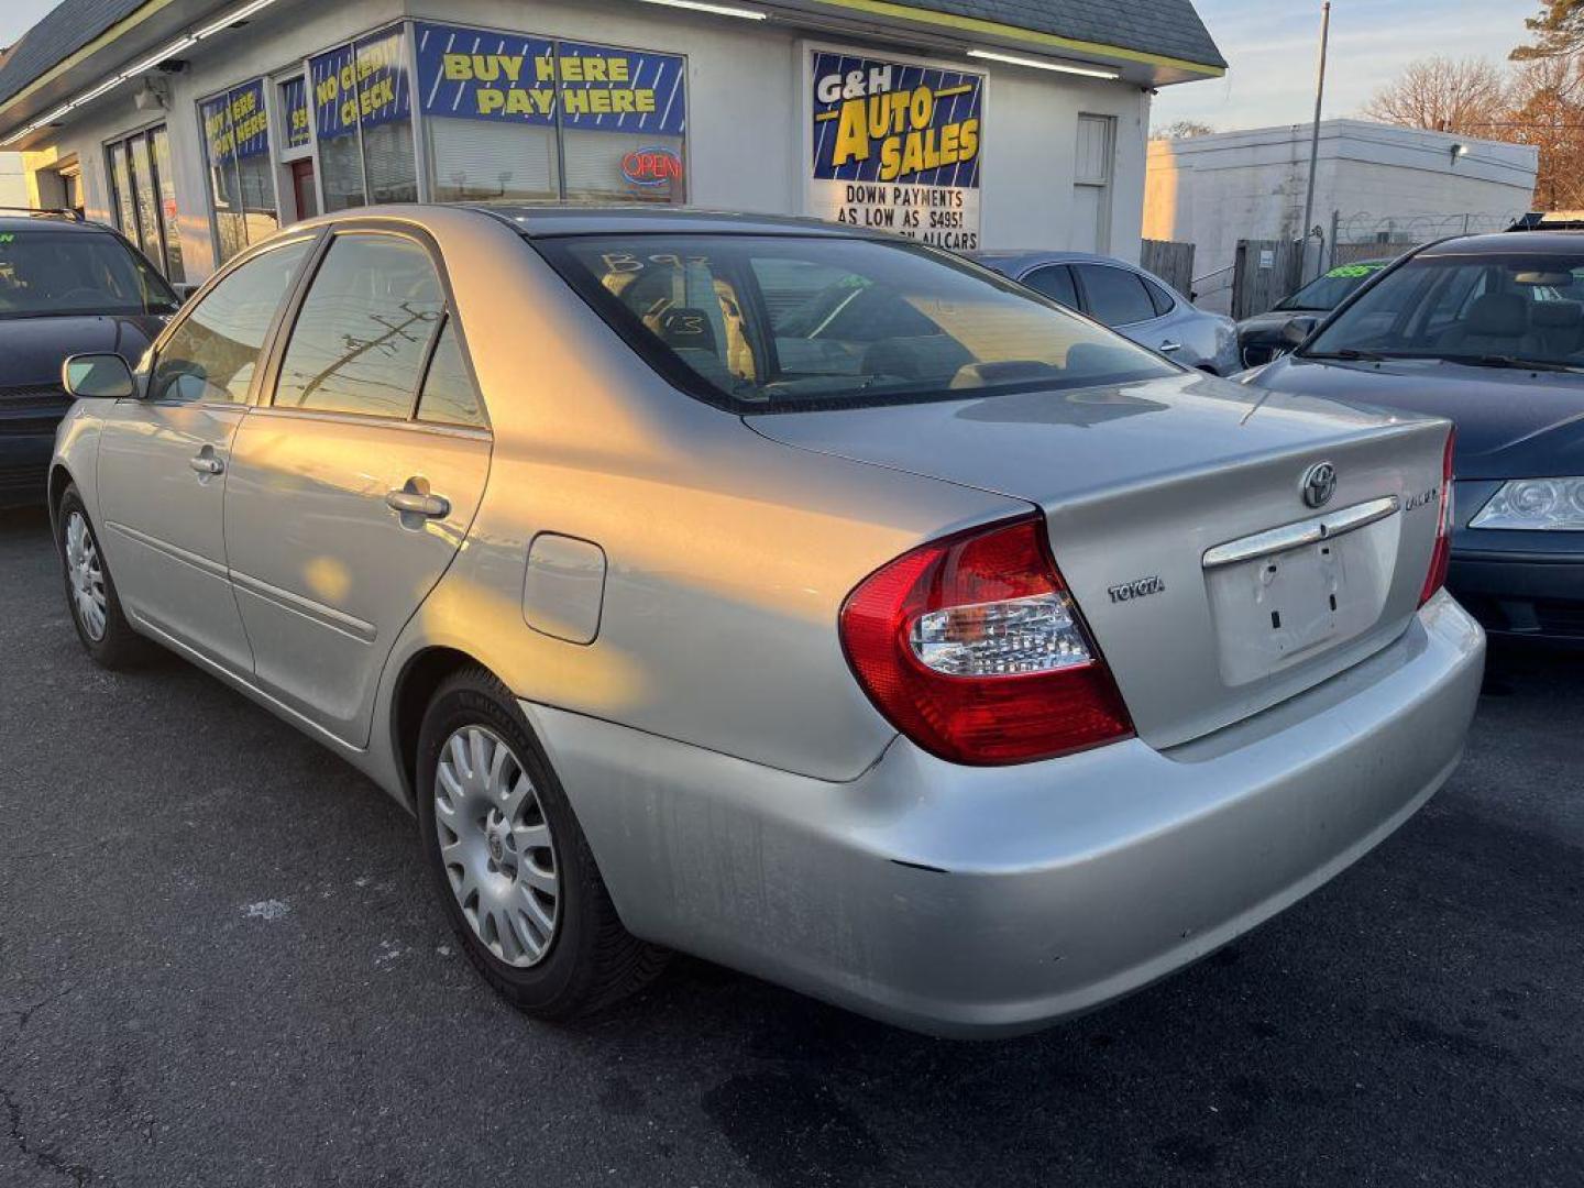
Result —
<instances>
[{"instance_id":1,"label":"white wall of the low building in the right background","mask_svg":"<svg viewBox=\"0 0 1584 1188\"><path fill-rule=\"evenodd\" d=\"M1453 146L1468 154L1453 157ZM1296 239L1308 185L1310 127L1253 128L1148 144L1144 234L1194 244L1194 272L1232 263L1239 239ZM1324 120L1315 223L1342 239L1394 227L1421 238L1473 230L1530 208L1536 150L1365 120ZM1478 215L1484 215L1481 220Z\"/></svg>"}]
</instances>

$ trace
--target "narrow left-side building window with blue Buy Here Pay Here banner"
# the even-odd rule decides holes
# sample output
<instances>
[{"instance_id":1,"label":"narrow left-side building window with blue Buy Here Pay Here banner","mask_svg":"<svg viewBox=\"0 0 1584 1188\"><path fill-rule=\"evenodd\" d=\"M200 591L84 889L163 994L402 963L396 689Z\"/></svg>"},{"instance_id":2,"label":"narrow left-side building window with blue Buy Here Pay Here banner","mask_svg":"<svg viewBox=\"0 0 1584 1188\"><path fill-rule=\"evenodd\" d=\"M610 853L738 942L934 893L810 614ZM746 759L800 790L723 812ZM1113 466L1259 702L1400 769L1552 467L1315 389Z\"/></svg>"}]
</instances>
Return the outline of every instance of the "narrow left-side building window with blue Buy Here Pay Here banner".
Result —
<instances>
[{"instance_id":1,"label":"narrow left-side building window with blue Buy Here Pay Here banner","mask_svg":"<svg viewBox=\"0 0 1584 1188\"><path fill-rule=\"evenodd\" d=\"M253 79L198 105L209 166L219 263L280 227L265 81Z\"/></svg>"}]
</instances>

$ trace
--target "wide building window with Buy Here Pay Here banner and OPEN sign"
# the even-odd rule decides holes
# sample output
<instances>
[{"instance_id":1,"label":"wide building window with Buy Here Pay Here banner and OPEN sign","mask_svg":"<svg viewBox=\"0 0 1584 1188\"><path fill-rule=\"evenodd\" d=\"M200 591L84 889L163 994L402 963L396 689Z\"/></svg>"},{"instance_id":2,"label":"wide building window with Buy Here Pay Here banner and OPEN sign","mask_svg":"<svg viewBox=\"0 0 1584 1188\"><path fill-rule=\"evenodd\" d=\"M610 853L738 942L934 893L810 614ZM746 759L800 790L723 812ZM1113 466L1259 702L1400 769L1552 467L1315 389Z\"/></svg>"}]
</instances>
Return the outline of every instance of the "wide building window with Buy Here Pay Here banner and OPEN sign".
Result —
<instances>
[{"instance_id":1,"label":"wide building window with Buy Here Pay Here banner and OPEN sign","mask_svg":"<svg viewBox=\"0 0 1584 1188\"><path fill-rule=\"evenodd\" d=\"M686 59L418 22L436 201L686 201Z\"/></svg>"}]
</instances>

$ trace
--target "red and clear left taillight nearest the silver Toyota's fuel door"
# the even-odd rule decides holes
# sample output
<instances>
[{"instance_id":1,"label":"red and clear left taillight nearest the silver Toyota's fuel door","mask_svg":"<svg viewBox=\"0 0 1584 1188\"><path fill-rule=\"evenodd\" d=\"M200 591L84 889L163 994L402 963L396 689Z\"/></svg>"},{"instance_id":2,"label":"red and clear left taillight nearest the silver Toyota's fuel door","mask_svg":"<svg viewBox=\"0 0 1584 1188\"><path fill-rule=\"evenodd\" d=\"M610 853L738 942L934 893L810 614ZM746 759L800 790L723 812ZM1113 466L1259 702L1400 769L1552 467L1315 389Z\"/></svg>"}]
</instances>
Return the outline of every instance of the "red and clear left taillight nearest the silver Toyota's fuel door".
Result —
<instances>
[{"instance_id":1,"label":"red and clear left taillight nearest the silver Toyota's fuel door","mask_svg":"<svg viewBox=\"0 0 1584 1188\"><path fill-rule=\"evenodd\" d=\"M859 684L919 746L958 763L1019 763L1133 733L1030 516L922 545L841 608Z\"/></svg>"}]
</instances>

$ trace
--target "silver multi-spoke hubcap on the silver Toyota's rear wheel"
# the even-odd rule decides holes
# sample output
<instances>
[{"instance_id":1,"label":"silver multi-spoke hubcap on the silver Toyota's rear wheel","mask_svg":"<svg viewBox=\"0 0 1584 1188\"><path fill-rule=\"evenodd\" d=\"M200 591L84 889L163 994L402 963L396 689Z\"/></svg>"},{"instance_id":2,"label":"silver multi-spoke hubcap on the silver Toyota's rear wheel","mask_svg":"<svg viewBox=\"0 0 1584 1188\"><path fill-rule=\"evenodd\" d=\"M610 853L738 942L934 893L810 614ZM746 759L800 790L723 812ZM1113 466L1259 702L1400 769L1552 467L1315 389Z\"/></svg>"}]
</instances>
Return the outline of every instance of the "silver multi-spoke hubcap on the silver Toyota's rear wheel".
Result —
<instances>
[{"instance_id":1,"label":"silver multi-spoke hubcap on the silver Toyota's rear wheel","mask_svg":"<svg viewBox=\"0 0 1584 1188\"><path fill-rule=\"evenodd\" d=\"M493 730L464 725L445 740L434 824L445 876L478 939L507 965L539 961L559 919L556 843L539 792Z\"/></svg>"}]
</instances>

